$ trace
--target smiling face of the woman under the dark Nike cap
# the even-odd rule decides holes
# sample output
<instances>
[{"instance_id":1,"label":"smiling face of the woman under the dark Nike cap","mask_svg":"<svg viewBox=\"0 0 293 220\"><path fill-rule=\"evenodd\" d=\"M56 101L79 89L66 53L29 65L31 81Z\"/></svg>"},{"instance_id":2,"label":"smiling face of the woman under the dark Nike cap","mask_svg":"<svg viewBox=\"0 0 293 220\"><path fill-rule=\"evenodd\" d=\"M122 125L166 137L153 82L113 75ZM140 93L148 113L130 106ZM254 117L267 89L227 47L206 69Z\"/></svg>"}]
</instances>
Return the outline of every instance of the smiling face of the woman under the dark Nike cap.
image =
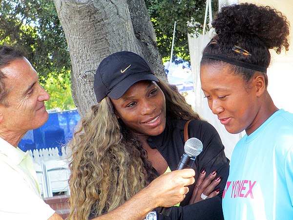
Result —
<instances>
[{"instance_id":1,"label":"smiling face of the woman under the dark Nike cap","mask_svg":"<svg viewBox=\"0 0 293 220\"><path fill-rule=\"evenodd\" d=\"M134 133L156 136L165 130L165 95L155 82L139 81L111 101L117 118Z\"/></svg>"}]
</instances>

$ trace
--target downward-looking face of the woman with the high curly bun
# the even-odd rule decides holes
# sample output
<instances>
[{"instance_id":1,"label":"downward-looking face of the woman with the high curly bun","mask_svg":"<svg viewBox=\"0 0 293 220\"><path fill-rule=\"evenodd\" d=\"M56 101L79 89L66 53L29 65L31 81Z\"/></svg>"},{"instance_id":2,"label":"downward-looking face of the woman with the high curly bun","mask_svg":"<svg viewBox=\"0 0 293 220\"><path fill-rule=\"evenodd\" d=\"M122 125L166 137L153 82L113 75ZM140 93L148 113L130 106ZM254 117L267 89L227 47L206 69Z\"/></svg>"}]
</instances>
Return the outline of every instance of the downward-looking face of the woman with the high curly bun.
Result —
<instances>
[{"instance_id":1,"label":"downward-looking face of the woman with the high curly bun","mask_svg":"<svg viewBox=\"0 0 293 220\"><path fill-rule=\"evenodd\" d=\"M201 66L200 80L209 108L228 132L246 130L249 134L260 126L253 78L247 83L241 76L233 75L229 65L215 64Z\"/></svg>"}]
</instances>

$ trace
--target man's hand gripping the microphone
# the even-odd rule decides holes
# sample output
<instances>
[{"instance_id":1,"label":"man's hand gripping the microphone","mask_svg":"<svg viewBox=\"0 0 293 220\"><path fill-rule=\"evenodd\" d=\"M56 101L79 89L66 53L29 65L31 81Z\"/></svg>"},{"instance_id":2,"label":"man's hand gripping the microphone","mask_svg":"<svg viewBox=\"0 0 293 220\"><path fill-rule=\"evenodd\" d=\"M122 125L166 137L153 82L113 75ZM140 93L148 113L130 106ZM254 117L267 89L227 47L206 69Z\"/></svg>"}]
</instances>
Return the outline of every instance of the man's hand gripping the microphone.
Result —
<instances>
[{"instance_id":1,"label":"man's hand gripping the microphone","mask_svg":"<svg viewBox=\"0 0 293 220\"><path fill-rule=\"evenodd\" d=\"M181 202L188 193L188 185L194 183L193 169L183 169L163 174L154 179L146 189L156 201L156 207L170 207Z\"/></svg>"}]
</instances>

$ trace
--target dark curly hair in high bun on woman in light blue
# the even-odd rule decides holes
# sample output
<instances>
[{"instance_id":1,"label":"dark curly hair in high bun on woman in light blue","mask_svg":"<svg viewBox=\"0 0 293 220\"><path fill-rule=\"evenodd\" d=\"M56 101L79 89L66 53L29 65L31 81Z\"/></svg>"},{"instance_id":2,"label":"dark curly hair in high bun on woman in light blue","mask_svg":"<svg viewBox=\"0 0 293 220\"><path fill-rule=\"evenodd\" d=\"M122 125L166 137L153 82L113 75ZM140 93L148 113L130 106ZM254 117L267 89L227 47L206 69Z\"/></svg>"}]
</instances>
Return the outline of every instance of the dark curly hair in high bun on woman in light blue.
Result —
<instances>
[{"instance_id":1,"label":"dark curly hair in high bun on woman in light blue","mask_svg":"<svg viewBox=\"0 0 293 220\"><path fill-rule=\"evenodd\" d=\"M269 49L278 54L284 48L289 50L289 22L279 11L269 6L257 6L251 3L235 4L223 7L212 22L216 35L203 50L203 54L225 55L238 61L268 67L271 62ZM232 50L237 45L247 50L251 56L244 56ZM215 64L227 65L223 61L203 58L201 66ZM230 65L230 64L228 64ZM255 70L230 65L235 75L248 82ZM266 86L268 79L265 76Z\"/></svg>"}]
</instances>

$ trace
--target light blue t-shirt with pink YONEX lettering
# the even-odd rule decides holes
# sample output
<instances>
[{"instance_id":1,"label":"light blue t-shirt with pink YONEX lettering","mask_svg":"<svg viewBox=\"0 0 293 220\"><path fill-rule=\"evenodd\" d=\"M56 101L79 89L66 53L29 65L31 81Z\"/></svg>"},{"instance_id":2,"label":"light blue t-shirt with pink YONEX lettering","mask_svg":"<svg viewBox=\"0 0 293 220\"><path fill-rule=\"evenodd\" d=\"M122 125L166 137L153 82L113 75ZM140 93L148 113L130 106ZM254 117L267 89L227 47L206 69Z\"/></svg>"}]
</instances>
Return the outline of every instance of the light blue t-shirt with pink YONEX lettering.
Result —
<instances>
[{"instance_id":1,"label":"light blue t-shirt with pink YONEX lettering","mask_svg":"<svg viewBox=\"0 0 293 220\"><path fill-rule=\"evenodd\" d=\"M225 220L293 220L293 114L278 110L235 146Z\"/></svg>"}]
</instances>

